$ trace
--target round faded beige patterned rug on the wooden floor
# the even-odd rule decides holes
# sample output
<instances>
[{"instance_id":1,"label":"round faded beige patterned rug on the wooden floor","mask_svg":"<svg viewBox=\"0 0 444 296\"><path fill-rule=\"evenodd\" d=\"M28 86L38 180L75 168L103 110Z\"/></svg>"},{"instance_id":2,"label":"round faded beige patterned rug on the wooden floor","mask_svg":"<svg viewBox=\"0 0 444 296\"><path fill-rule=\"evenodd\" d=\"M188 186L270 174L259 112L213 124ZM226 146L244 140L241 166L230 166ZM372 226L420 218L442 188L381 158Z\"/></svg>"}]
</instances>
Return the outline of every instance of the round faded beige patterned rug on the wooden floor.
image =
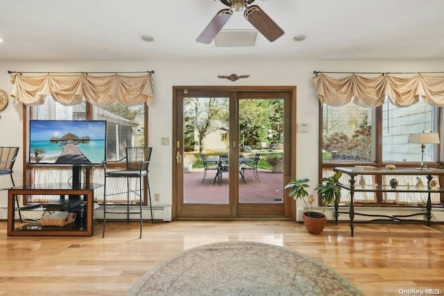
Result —
<instances>
[{"instance_id":1,"label":"round faded beige patterned rug on the wooden floor","mask_svg":"<svg viewBox=\"0 0 444 296\"><path fill-rule=\"evenodd\" d=\"M285 247L225 242L160 263L128 295L363 295L323 263Z\"/></svg>"}]
</instances>

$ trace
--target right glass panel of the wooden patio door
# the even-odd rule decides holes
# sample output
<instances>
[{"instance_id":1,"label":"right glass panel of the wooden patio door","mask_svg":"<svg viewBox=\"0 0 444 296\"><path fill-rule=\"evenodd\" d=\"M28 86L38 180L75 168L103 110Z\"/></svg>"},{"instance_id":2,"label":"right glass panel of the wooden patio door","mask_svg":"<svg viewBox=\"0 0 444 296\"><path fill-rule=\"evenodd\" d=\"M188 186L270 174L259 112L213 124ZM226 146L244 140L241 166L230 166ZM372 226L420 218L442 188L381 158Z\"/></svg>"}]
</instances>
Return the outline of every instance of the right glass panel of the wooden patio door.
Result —
<instances>
[{"instance_id":1,"label":"right glass panel of the wooden patio door","mask_svg":"<svg viewBox=\"0 0 444 296\"><path fill-rule=\"evenodd\" d=\"M284 202L284 100L239 100L239 203Z\"/></svg>"}]
</instances>

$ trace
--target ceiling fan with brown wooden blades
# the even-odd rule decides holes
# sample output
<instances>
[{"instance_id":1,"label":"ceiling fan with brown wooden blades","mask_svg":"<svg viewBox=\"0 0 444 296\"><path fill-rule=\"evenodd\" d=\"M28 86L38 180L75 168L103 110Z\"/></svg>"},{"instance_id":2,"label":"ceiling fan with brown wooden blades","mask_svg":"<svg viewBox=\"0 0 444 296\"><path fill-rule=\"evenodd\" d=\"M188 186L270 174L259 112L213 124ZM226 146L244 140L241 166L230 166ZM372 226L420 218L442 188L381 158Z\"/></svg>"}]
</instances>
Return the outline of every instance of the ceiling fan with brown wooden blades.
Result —
<instances>
[{"instance_id":1,"label":"ceiling fan with brown wooden blades","mask_svg":"<svg viewBox=\"0 0 444 296\"><path fill-rule=\"evenodd\" d=\"M255 0L220 1L226 6L230 6L230 8L219 10L210 21L210 24L208 24L203 32L200 33L199 37L197 37L196 42L210 44L214 37L216 37L216 35L222 30L223 26L227 24L228 19L230 19L233 14L233 10L239 12L244 10L244 8L244 17L250 21L250 24L264 35L268 41L273 42L284 35L282 28L280 28L271 17L268 17L262 8L259 8L257 5L248 6Z\"/></svg>"}]
</instances>

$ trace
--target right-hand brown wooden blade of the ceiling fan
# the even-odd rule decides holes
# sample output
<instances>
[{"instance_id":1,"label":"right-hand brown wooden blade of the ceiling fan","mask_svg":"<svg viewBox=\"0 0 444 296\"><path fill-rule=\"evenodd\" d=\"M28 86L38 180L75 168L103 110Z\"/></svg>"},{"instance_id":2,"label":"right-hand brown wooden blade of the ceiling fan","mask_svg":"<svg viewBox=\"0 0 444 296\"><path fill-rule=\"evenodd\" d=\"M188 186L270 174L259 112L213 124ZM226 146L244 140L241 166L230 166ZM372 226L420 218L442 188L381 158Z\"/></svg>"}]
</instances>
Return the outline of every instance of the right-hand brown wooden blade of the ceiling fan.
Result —
<instances>
[{"instance_id":1,"label":"right-hand brown wooden blade of the ceiling fan","mask_svg":"<svg viewBox=\"0 0 444 296\"><path fill-rule=\"evenodd\" d=\"M248 7L244 12L244 17L270 42L284 35L282 28L257 5Z\"/></svg>"}]
</instances>

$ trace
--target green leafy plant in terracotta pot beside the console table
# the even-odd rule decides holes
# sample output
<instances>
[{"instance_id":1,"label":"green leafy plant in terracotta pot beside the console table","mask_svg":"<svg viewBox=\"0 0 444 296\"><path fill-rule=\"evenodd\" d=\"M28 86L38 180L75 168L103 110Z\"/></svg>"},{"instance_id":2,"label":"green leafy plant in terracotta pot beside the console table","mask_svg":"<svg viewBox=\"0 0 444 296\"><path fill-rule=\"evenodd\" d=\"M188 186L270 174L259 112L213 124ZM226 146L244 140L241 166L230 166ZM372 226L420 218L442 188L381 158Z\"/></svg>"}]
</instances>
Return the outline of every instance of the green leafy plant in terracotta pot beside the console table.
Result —
<instances>
[{"instance_id":1,"label":"green leafy plant in terracotta pot beside the console table","mask_svg":"<svg viewBox=\"0 0 444 296\"><path fill-rule=\"evenodd\" d=\"M341 184L341 182L339 182L341 175L342 172L336 172L331 177L323 177L321 184L314 189L318 191L319 195L321 195L324 205L322 213L313 211L314 198L309 195L306 190L309 188L309 185L307 184L309 182L308 178L290 180L290 182L284 187L285 189L290 189L290 197L294 200L300 198L305 203L307 211L302 213L302 220L309 233L320 234L323 231L325 222L327 221L327 216L324 214L327 205L332 204L333 202L339 202L341 199L341 187L339 186L339 184ZM309 200L305 200L307 196L309 196Z\"/></svg>"}]
</instances>

